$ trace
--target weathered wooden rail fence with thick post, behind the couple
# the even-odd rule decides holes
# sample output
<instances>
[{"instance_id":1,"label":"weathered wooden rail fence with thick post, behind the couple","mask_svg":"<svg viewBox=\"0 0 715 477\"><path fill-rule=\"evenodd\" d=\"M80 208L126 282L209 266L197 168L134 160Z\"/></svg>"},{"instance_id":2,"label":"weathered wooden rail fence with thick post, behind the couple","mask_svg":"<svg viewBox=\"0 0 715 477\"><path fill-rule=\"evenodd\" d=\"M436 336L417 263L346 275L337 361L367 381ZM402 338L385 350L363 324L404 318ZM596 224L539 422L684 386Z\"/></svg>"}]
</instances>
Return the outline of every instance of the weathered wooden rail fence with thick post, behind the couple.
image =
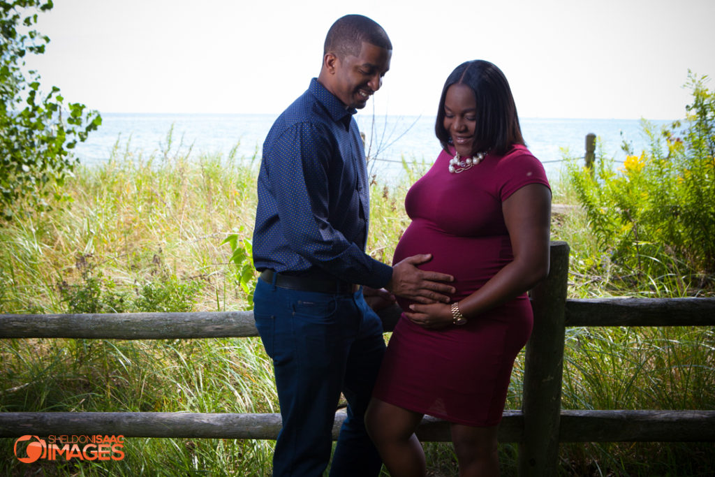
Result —
<instances>
[{"instance_id":1,"label":"weathered wooden rail fence with thick post, behind the couple","mask_svg":"<svg viewBox=\"0 0 715 477\"><path fill-rule=\"evenodd\" d=\"M551 272L531 291L534 328L526 345L523 409L506 410L501 442L519 443L520 476L553 476L560 442L715 441L715 410L561 410L567 326L712 326L715 299L567 300L569 247L551 244ZM381 313L391 330L399 310ZM0 315L0 338L181 339L257 336L251 312ZM335 415L333 437L345 415ZM0 413L0 437L275 439L279 414ZM448 423L425 417L423 441L450 441Z\"/></svg>"}]
</instances>

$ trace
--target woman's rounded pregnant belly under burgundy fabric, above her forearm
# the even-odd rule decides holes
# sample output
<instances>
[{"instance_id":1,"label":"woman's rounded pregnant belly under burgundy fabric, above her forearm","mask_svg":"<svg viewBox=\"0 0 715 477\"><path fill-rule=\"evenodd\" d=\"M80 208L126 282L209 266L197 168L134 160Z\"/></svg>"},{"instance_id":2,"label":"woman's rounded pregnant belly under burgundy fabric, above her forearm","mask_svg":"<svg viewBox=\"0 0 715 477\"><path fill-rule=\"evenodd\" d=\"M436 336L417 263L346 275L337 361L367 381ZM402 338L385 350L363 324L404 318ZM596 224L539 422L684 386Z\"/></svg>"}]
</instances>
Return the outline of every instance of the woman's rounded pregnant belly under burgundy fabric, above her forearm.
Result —
<instances>
[{"instance_id":1,"label":"woman's rounded pregnant belly under burgundy fabric, above her forearm","mask_svg":"<svg viewBox=\"0 0 715 477\"><path fill-rule=\"evenodd\" d=\"M460 237L438 230L424 220L414 220L395 247L393 264L423 253L433 257L418 265L420 269L453 275L455 281L451 285L457 289L453 300L461 300L478 290L512 260L508 235ZM398 303L405 310L412 302L398 298Z\"/></svg>"}]
</instances>

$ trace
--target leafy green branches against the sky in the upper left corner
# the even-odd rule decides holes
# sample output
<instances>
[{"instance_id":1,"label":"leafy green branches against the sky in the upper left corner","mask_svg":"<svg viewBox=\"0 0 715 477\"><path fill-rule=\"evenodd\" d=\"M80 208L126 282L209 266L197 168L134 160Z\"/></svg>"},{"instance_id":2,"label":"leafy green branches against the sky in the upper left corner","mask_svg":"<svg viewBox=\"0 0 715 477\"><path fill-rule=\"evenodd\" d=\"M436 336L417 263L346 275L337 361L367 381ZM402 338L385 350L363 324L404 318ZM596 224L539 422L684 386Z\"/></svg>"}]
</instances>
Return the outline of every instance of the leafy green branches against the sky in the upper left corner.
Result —
<instances>
[{"instance_id":1,"label":"leafy green branches against the sky in the upper left corner","mask_svg":"<svg viewBox=\"0 0 715 477\"><path fill-rule=\"evenodd\" d=\"M0 207L6 219L23 200L48 210L45 186L63 185L76 164L71 149L102 124L99 113L85 112L84 104L65 104L59 88L42 94L39 74L24 72L25 56L43 54L49 38L22 31L37 22L32 9L52 6L41 0L0 2ZM55 190L54 198L69 197Z\"/></svg>"}]
</instances>

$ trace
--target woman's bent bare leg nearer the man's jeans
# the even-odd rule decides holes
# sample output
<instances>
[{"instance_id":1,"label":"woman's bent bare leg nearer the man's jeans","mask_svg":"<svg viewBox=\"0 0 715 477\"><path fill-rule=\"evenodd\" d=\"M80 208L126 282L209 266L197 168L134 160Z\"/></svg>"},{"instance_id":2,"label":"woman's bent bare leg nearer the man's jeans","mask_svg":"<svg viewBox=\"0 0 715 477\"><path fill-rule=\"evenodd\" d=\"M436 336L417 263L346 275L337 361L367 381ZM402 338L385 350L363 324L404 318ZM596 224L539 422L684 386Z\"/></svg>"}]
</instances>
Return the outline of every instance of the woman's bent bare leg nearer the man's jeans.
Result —
<instances>
[{"instance_id":1,"label":"woman's bent bare leg nearer the man's jeans","mask_svg":"<svg viewBox=\"0 0 715 477\"><path fill-rule=\"evenodd\" d=\"M392 477L425 476L425 451L415 436L423 415L379 399L370 400L365 426Z\"/></svg>"}]
</instances>

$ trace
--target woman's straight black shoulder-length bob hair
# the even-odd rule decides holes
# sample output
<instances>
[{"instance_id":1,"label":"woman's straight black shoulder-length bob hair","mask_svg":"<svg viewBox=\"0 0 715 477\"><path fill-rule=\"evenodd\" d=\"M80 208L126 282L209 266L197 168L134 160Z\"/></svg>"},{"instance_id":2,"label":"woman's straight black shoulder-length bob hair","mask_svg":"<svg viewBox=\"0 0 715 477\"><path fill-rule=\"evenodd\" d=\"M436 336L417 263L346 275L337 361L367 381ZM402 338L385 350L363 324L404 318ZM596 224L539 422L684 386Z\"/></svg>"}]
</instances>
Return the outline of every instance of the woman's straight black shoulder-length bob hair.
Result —
<instances>
[{"instance_id":1,"label":"woman's straight black shoulder-length bob hair","mask_svg":"<svg viewBox=\"0 0 715 477\"><path fill-rule=\"evenodd\" d=\"M453 84L469 87L477 100L472 154L486 151L506 154L515 144L524 144L516 104L506 77L495 64L475 59L456 67L442 89L435 133L445 151L448 151L451 141L444 127L445 98Z\"/></svg>"}]
</instances>

